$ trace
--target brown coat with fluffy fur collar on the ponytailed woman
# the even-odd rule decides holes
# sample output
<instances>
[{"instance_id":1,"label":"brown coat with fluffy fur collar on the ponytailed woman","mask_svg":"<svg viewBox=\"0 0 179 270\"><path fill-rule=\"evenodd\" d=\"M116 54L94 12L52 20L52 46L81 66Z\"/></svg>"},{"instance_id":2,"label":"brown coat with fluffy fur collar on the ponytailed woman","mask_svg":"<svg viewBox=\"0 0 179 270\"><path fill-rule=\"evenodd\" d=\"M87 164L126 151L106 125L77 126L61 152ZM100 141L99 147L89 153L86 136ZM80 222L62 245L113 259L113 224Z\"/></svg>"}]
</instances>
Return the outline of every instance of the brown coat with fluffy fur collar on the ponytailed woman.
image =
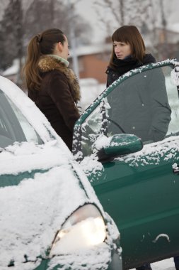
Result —
<instances>
[{"instance_id":1,"label":"brown coat with fluffy fur collar on the ponytailed woman","mask_svg":"<svg viewBox=\"0 0 179 270\"><path fill-rule=\"evenodd\" d=\"M71 150L74 124L79 119L79 82L71 69L50 55L42 55L38 67L40 90L29 91L28 96Z\"/></svg>"}]
</instances>

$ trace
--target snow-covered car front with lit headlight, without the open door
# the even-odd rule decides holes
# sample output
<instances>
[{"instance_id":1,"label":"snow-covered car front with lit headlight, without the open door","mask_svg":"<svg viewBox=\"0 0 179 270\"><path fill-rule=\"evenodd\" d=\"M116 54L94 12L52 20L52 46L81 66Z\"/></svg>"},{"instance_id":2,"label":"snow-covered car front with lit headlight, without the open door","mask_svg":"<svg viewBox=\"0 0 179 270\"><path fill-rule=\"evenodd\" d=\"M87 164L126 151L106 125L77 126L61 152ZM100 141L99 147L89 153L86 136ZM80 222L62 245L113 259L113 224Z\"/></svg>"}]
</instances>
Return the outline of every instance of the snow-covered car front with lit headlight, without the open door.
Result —
<instances>
[{"instance_id":1,"label":"snow-covered car front with lit headlight, without the open door","mask_svg":"<svg viewBox=\"0 0 179 270\"><path fill-rule=\"evenodd\" d=\"M120 234L45 116L0 77L1 270L122 269Z\"/></svg>"}]
</instances>

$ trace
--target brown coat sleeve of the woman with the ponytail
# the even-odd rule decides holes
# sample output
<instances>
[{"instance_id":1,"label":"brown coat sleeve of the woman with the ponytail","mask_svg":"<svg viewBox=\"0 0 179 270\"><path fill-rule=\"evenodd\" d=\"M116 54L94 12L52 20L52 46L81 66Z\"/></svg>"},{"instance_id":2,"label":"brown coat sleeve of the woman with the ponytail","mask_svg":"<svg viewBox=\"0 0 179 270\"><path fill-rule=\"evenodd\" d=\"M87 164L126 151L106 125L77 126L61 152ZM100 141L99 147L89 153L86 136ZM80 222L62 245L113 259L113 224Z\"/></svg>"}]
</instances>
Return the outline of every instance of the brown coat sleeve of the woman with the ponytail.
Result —
<instances>
[{"instance_id":1,"label":"brown coat sleeve of the woman with the ponytail","mask_svg":"<svg viewBox=\"0 0 179 270\"><path fill-rule=\"evenodd\" d=\"M71 95L67 77L63 73L54 72L50 81L48 94L57 106L65 124L73 132L74 124L80 115Z\"/></svg>"}]
</instances>

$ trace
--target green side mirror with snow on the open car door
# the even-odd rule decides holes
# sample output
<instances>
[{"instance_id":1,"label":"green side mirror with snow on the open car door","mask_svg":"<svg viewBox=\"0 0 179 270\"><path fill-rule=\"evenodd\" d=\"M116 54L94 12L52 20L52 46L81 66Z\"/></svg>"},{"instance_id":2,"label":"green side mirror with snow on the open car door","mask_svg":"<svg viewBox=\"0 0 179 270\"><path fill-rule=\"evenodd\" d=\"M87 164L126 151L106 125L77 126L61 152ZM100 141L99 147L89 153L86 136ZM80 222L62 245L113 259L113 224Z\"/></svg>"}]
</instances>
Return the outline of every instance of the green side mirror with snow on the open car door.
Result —
<instances>
[{"instance_id":1,"label":"green side mirror with snow on the open car door","mask_svg":"<svg viewBox=\"0 0 179 270\"><path fill-rule=\"evenodd\" d=\"M116 156L126 155L142 150L142 140L133 134L115 134L97 146L98 161L110 161Z\"/></svg>"}]
</instances>

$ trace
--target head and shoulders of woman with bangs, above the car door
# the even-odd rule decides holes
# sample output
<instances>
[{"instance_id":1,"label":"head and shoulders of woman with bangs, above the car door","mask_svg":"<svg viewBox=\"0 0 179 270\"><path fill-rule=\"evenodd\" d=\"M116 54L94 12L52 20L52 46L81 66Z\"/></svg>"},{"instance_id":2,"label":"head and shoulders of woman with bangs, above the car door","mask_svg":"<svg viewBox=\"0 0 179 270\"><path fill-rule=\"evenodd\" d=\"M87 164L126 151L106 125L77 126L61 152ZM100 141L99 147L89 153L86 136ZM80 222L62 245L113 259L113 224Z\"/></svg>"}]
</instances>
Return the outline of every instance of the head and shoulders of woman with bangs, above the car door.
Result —
<instances>
[{"instance_id":1,"label":"head and shoulders of woman with bangs, above the car door","mask_svg":"<svg viewBox=\"0 0 179 270\"><path fill-rule=\"evenodd\" d=\"M106 70L107 87L125 72L156 62L151 54L146 54L143 38L136 26L118 28L112 34L112 43L112 55Z\"/></svg>"}]
</instances>

